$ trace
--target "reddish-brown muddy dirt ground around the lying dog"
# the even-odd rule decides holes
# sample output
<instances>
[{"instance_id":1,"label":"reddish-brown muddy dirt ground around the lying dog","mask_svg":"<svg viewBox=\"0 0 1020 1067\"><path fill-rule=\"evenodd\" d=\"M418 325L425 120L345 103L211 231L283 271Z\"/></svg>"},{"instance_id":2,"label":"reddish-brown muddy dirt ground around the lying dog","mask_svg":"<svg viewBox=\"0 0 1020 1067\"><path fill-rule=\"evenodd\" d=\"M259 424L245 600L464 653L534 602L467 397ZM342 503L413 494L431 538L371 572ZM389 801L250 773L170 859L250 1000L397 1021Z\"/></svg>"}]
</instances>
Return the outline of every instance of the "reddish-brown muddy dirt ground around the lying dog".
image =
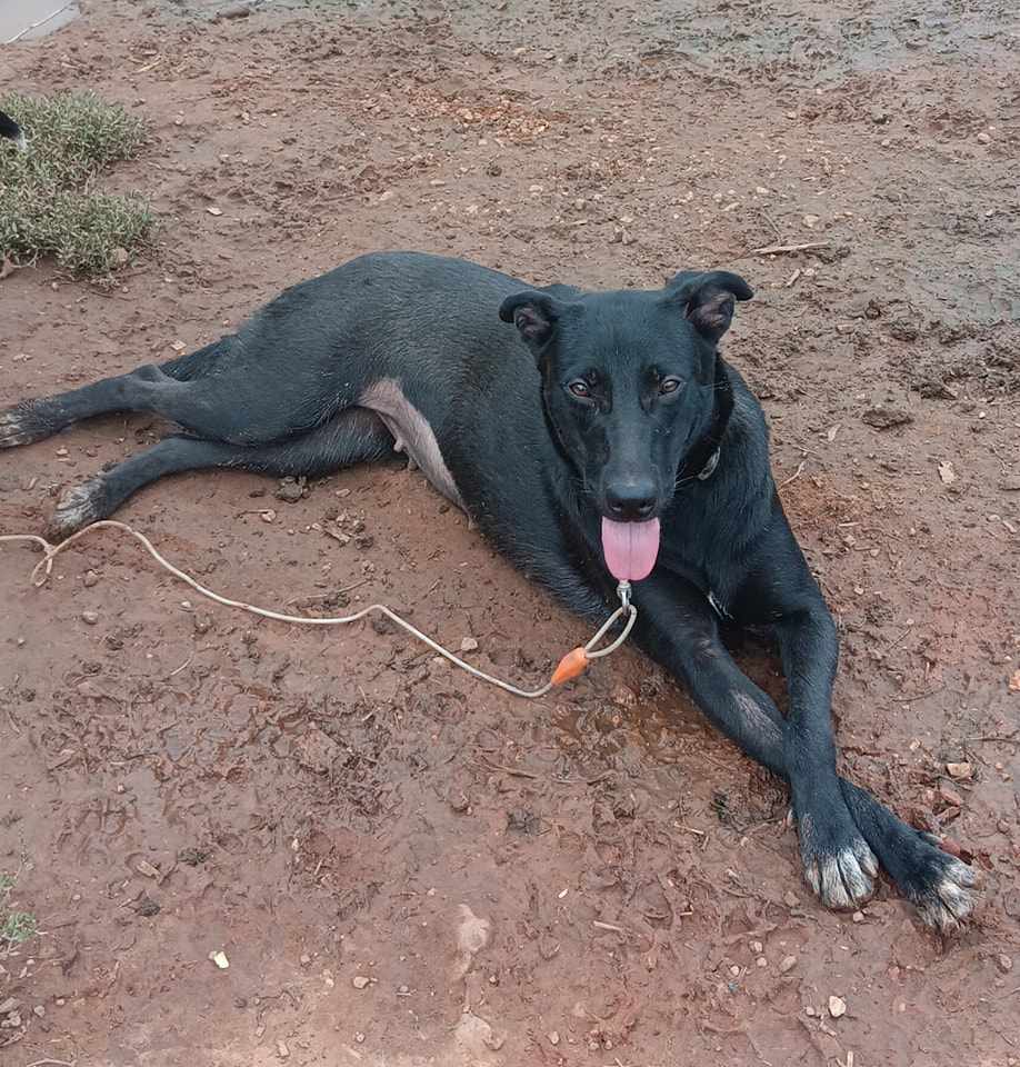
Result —
<instances>
[{"instance_id":1,"label":"reddish-brown muddy dirt ground around the lying dog","mask_svg":"<svg viewBox=\"0 0 1020 1067\"><path fill-rule=\"evenodd\" d=\"M114 289L0 282L0 403L370 249L739 271L724 349L840 624L846 771L972 857L977 917L822 910L783 790L630 650L529 704L387 627L201 601L113 535L39 590L4 546L0 869L41 933L0 948L0 1064L1020 1063L1016 7L453 7L106 0L4 49L7 88L146 116L111 185L162 228ZM4 453L0 530L161 430ZM529 684L588 636L400 463L293 490L199 473L121 517L228 595L382 599Z\"/></svg>"}]
</instances>

